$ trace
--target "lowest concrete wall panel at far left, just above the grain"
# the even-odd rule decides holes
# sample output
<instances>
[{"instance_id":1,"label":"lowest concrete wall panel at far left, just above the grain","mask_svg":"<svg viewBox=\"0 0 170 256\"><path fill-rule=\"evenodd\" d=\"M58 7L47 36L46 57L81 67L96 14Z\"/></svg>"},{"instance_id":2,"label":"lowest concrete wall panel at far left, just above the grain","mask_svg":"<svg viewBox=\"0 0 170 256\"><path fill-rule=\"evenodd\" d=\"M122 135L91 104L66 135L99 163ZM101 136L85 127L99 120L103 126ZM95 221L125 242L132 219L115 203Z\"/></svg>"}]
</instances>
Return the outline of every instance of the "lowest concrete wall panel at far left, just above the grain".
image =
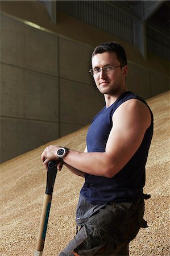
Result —
<instances>
[{"instance_id":1,"label":"lowest concrete wall panel at far left, just above the grain","mask_svg":"<svg viewBox=\"0 0 170 256\"><path fill-rule=\"evenodd\" d=\"M59 137L59 123L1 117L1 162Z\"/></svg>"}]
</instances>

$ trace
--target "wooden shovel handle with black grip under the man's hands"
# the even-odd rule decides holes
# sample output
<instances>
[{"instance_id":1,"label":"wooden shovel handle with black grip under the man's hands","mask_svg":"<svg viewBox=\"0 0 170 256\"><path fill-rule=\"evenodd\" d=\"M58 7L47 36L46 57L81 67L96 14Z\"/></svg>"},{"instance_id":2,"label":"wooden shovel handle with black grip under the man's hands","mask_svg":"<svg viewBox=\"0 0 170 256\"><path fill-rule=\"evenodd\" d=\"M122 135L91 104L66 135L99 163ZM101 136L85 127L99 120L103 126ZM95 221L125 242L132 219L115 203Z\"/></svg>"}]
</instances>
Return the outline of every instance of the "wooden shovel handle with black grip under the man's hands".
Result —
<instances>
[{"instance_id":1,"label":"wooden shovel handle with black grip under the man's hands","mask_svg":"<svg viewBox=\"0 0 170 256\"><path fill-rule=\"evenodd\" d=\"M43 255L49 210L51 207L53 185L55 184L56 174L57 174L56 162L50 161L48 163L48 169L47 169L47 185L45 189L45 196L43 201L42 216L40 219L40 228L39 228L38 240L36 243L35 256Z\"/></svg>"}]
</instances>

